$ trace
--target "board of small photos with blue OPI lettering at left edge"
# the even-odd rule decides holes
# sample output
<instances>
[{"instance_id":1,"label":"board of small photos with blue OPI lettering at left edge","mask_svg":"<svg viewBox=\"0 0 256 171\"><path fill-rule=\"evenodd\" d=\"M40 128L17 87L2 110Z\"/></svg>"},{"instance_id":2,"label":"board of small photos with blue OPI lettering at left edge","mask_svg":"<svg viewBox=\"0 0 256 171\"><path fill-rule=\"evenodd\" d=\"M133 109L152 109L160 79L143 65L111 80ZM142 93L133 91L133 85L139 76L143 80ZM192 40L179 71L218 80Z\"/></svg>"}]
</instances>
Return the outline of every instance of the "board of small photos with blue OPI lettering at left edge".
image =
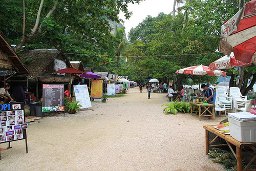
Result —
<instances>
[{"instance_id":1,"label":"board of small photos with blue OPI lettering at left edge","mask_svg":"<svg viewBox=\"0 0 256 171\"><path fill-rule=\"evenodd\" d=\"M0 143L27 138L24 103L0 104Z\"/></svg>"}]
</instances>

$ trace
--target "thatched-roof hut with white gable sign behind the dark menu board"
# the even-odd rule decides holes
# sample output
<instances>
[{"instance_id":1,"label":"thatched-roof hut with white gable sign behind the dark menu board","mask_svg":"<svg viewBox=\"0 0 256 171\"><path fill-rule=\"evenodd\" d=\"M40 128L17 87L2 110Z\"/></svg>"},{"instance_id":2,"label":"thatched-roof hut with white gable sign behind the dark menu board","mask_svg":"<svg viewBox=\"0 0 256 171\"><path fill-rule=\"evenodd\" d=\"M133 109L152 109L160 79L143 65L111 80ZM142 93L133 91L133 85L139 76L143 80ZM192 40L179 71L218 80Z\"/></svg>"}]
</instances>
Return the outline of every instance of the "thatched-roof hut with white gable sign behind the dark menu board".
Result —
<instances>
[{"instance_id":1,"label":"thatched-roof hut with white gable sign behind the dark menu board","mask_svg":"<svg viewBox=\"0 0 256 171\"><path fill-rule=\"evenodd\" d=\"M37 100L42 96L42 84L64 83L65 88L68 87L69 76L53 74L71 66L69 59L63 53L56 49L35 49L26 50L21 55L30 59L26 66L33 78L31 87L35 88Z\"/></svg>"}]
</instances>

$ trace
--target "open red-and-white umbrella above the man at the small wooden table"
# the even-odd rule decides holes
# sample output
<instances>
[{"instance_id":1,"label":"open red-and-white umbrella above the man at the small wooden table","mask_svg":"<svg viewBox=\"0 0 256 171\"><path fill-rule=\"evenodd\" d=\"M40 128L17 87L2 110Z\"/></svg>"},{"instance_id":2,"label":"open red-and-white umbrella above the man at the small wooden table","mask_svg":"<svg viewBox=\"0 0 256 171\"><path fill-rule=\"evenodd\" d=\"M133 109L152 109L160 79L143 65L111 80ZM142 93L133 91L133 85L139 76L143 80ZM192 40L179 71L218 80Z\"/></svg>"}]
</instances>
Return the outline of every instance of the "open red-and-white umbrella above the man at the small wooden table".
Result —
<instances>
[{"instance_id":1,"label":"open red-and-white umbrella above the man at the small wooden table","mask_svg":"<svg viewBox=\"0 0 256 171\"><path fill-rule=\"evenodd\" d=\"M177 74L190 74L190 75L209 75L209 76L226 76L226 73L221 70L209 70L207 66L193 66L187 67L176 71Z\"/></svg>"}]
</instances>

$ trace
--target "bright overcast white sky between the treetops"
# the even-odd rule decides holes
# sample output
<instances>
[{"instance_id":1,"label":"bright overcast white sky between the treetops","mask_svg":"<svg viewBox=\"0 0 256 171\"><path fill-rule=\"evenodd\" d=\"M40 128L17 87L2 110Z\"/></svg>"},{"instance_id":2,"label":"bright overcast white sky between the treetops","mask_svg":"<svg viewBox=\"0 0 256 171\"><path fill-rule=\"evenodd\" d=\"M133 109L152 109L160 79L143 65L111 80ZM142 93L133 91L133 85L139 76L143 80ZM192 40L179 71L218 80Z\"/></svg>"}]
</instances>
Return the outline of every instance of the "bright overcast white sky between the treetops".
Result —
<instances>
[{"instance_id":1,"label":"bright overcast white sky between the treetops","mask_svg":"<svg viewBox=\"0 0 256 171\"><path fill-rule=\"evenodd\" d=\"M124 20L124 27L126 36L130 32L131 28L135 28L139 23L151 15L156 17L160 12L169 14L173 11L174 0L145 0L138 4L129 4L129 11L133 12L133 15L129 20L126 20L123 13L120 13L119 17ZM128 37L127 37L128 38Z\"/></svg>"}]
</instances>

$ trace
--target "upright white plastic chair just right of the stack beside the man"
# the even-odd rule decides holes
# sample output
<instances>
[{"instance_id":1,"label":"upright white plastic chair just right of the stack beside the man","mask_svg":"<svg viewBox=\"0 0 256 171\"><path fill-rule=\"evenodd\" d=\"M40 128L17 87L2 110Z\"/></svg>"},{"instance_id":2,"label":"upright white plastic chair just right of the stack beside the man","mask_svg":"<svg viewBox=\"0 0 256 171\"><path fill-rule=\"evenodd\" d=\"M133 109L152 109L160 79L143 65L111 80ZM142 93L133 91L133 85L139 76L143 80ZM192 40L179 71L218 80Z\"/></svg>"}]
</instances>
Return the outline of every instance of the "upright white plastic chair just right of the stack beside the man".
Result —
<instances>
[{"instance_id":1,"label":"upright white plastic chair just right of the stack beside the man","mask_svg":"<svg viewBox=\"0 0 256 171\"><path fill-rule=\"evenodd\" d=\"M237 104L241 104L247 100L247 96L242 96L238 87L229 88L229 97L232 97L233 108L236 108Z\"/></svg>"}]
</instances>

